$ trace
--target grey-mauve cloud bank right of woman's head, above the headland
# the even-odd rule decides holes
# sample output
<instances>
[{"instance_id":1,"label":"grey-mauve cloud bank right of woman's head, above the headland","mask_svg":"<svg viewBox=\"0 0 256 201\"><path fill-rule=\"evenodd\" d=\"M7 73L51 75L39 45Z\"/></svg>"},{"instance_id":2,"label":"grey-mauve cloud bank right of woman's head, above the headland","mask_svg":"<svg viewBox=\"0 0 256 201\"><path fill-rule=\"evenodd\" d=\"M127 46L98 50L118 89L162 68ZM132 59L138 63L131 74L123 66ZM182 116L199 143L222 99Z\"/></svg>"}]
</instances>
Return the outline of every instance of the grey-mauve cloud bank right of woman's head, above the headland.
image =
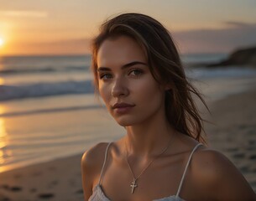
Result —
<instances>
[{"instance_id":1,"label":"grey-mauve cloud bank right of woman's head, above the headland","mask_svg":"<svg viewBox=\"0 0 256 201\"><path fill-rule=\"evenodd\" d=\"M234 49L256 45L256 23L227 22L227 28L174 32L181 52L228 53Z\"/></svg>"}]
</instances>

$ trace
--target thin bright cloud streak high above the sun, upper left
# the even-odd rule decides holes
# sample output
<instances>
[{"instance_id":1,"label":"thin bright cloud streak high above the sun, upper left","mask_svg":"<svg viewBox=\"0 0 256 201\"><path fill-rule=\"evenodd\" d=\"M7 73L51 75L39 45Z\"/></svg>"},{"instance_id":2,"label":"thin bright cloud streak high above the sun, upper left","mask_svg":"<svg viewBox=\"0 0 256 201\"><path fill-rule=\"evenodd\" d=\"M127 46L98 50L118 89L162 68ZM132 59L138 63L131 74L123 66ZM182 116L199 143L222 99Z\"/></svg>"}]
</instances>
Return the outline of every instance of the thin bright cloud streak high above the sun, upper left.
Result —
<instances>
[{"instance_id":1,"label":"thin bright cloud streak high above the sun, upper left","mask_svg":"<svg viewBox=\"0 0 256 201\"><path fill-rule=\"evenodd\" d=\"M29 10L9 10L0 11L0 16L18 17L18 18L47 18L48 13L44 11L29 11Z\"/></svg>"}]
</instances>

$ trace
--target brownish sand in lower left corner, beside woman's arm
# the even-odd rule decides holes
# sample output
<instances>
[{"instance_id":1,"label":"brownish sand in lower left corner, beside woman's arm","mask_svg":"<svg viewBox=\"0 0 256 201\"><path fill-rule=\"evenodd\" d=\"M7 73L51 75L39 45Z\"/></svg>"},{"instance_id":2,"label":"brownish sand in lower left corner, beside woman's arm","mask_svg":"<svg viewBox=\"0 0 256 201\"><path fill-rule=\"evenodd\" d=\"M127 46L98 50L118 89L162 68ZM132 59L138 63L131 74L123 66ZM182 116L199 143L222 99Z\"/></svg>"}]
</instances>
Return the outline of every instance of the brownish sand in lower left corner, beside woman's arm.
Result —
<instances>
[{"instance_id":1,"label":"brownish sand in lower left corner, beside woman's arm","mask_svg":"<svg viewBox=\"0 0 256 201\"><path fill-rule=\"evenodd\" d=\"M81 154L0 174L0 200L83 200Z\"/></svg>"}]
</instances>

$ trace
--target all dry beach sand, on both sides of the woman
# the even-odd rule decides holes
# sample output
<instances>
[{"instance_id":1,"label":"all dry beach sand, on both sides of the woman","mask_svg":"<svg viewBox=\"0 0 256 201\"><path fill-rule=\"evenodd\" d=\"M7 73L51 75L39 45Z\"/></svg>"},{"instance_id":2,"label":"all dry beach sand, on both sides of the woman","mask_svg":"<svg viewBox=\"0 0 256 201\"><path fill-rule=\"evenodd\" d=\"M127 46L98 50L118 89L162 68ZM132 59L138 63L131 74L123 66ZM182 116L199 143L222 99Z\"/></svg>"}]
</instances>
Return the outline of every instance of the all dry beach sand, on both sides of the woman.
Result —
<instances>
[{"instance_id":1,"label":"all dry beach sand, on both sides of the woman","mask_svg":"<svg viewBox=\"0 0 256 201\"><path fill-rule=\"evenodd\" d=\"M209 145L223 152L256 192L256 90L210 104ZM81 154L0 173L0 201L83 200Z\"/></svg>"}]
</instances>

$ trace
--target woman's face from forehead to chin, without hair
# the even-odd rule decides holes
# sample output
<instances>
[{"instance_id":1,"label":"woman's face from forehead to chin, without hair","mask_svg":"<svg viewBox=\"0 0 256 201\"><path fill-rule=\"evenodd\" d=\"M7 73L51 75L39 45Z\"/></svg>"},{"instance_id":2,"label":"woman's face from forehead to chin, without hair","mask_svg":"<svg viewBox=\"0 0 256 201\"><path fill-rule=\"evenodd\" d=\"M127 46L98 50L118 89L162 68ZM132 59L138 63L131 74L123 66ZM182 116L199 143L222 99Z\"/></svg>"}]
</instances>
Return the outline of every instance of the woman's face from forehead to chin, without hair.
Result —
<instances>
[{"instance_id":1,"label":"woman's face from forehead to chin, without hair","mask_svg":"<svg viewBox=\"0 0 256 201\"><path fill-rule=\"evenodd\" d=\"M151 75L143 49L131 38L106 39L97 54L99 93L121 126L165 114L165 89Z\"/></svg>"}]
</instances>

